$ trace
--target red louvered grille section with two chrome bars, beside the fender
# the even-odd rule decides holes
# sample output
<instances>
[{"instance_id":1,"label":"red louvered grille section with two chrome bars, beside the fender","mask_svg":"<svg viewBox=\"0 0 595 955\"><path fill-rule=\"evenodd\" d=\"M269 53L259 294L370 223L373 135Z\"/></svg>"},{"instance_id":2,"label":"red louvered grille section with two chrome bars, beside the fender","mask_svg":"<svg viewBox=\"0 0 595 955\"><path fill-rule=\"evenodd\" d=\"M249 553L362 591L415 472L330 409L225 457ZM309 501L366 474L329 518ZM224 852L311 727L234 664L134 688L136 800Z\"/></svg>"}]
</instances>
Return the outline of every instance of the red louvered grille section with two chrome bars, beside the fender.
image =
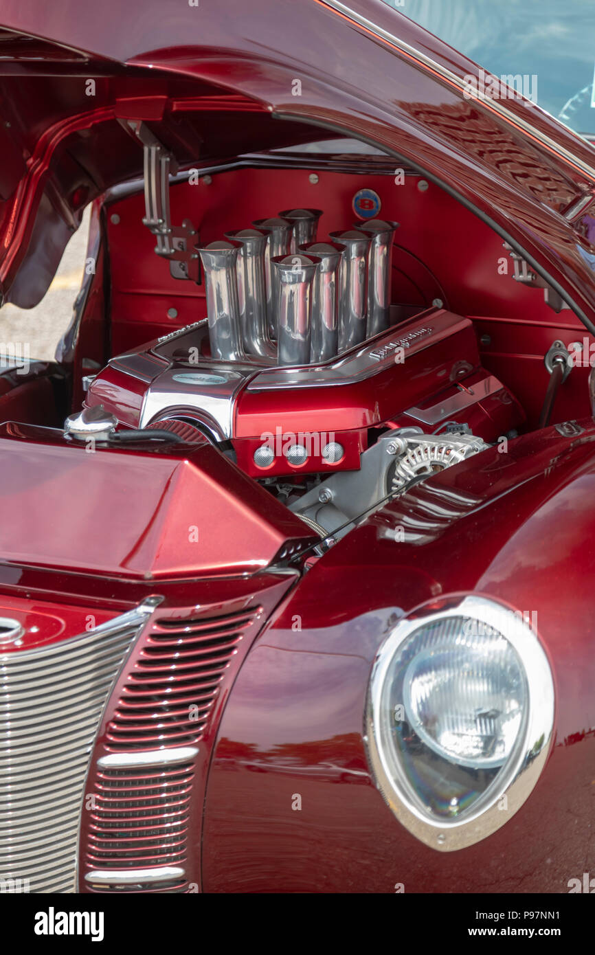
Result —
<instances>
[{"instance_id":1,"label":"red louvered grille section with two chrome bars, beside the fender","mask_svg":"<svg viewBox=\"0 0 595 955\"><path fill-rule=\"evenodd\" d=\"M144 631L122 669L96 762L84 834L91 891L188 891L198 744L263 612L223 605L190 618L156 614Z\"/></svg>"}]
</instances>

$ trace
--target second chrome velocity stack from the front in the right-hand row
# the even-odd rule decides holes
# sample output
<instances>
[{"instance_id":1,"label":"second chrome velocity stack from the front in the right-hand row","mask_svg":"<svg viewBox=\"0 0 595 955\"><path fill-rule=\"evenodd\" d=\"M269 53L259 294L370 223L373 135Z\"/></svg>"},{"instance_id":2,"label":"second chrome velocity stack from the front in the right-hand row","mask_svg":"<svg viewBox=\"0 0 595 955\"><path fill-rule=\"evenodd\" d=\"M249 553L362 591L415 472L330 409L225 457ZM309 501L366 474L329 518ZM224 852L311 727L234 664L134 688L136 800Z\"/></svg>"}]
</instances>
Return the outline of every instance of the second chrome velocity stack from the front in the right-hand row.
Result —
<instances>
[{"instance_id":1,"label":"second chrome velocity stack from the front in the right-hand row","mask_svg":"<svg viewBox=\"0 0 595 955\"><path fill-rule=\"evenodd\" d=\"M311 242L300 246L299 251L320 259L312 281L310 361L328 361L339 350L339 269L343 247Z\"/></svg>"}]
</instances>

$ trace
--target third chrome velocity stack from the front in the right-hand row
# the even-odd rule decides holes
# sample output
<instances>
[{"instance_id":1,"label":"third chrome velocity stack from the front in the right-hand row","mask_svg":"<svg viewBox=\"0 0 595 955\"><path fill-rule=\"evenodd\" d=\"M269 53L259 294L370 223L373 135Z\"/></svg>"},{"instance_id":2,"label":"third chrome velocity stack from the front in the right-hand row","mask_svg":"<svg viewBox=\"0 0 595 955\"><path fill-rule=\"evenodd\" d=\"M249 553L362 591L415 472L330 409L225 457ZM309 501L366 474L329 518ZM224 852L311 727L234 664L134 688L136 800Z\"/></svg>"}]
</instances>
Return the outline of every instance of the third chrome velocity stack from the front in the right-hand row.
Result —
<instances>
[{"instance_id":1,"label":"third chrome velocity stack from the front in the right-hand row","mask_svg":"<svg viewBox=\"0 0 595 955\"><path fill-rule=\"evenodd\" d=\"M368 310L368 260L372 239L359 229L330 232L333 244L340 245L343 259L339 269L339 351L351 349L366 339Z\"/></svg>"}]
</instances>

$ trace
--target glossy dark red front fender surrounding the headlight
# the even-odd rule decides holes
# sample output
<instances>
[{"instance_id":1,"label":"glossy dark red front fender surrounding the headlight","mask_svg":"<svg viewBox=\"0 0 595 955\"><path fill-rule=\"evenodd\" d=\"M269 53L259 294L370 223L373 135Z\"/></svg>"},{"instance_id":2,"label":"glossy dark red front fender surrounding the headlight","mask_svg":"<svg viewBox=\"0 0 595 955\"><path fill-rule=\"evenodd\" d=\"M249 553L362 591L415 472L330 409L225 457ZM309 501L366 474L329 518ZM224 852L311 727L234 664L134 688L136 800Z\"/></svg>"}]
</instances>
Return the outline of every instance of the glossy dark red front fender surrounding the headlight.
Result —
<instances>
[{"instance_id":1,"label":"glossy dark red front fender surrounding the headlight","mask_svg":"<svg viewBox=\"0 0 595 955\"><path fill-rule=\"evenodd\" d=\"M582 424L578 436L547 429L430 478L310 569L256 642L223 714L205 891L393 892L404 882L407 892L565 892L583 872L595 769L595 429ZM396 542L398 526L420 539ZM397 620L472 591L537 615L556 736L521 810L493 836L443 854L403 829L374 788L363 712L374 654Z\"/></svg>"}]
</instances>

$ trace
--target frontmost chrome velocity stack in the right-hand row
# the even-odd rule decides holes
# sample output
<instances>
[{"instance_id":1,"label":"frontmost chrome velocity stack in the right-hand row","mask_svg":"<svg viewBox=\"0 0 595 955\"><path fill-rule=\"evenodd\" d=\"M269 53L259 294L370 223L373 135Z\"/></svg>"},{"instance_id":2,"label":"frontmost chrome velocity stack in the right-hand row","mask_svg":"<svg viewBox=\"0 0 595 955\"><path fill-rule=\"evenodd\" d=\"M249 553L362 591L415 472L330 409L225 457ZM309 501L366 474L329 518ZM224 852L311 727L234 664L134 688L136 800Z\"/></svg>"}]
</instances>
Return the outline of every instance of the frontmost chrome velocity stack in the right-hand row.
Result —
<instances>
[{"instance_id":1,"label":"frontmost chrome velocity stack in the right-hand row","mask_svg":"<svg viewBox=\"0 0 595 955\"><path fill-rule=\"evenodd\" d=\"M271 259L279 279L279 365L309 364L312 282L319 264L316 256L299 253Z\"/></svg>"}]
</instances>

